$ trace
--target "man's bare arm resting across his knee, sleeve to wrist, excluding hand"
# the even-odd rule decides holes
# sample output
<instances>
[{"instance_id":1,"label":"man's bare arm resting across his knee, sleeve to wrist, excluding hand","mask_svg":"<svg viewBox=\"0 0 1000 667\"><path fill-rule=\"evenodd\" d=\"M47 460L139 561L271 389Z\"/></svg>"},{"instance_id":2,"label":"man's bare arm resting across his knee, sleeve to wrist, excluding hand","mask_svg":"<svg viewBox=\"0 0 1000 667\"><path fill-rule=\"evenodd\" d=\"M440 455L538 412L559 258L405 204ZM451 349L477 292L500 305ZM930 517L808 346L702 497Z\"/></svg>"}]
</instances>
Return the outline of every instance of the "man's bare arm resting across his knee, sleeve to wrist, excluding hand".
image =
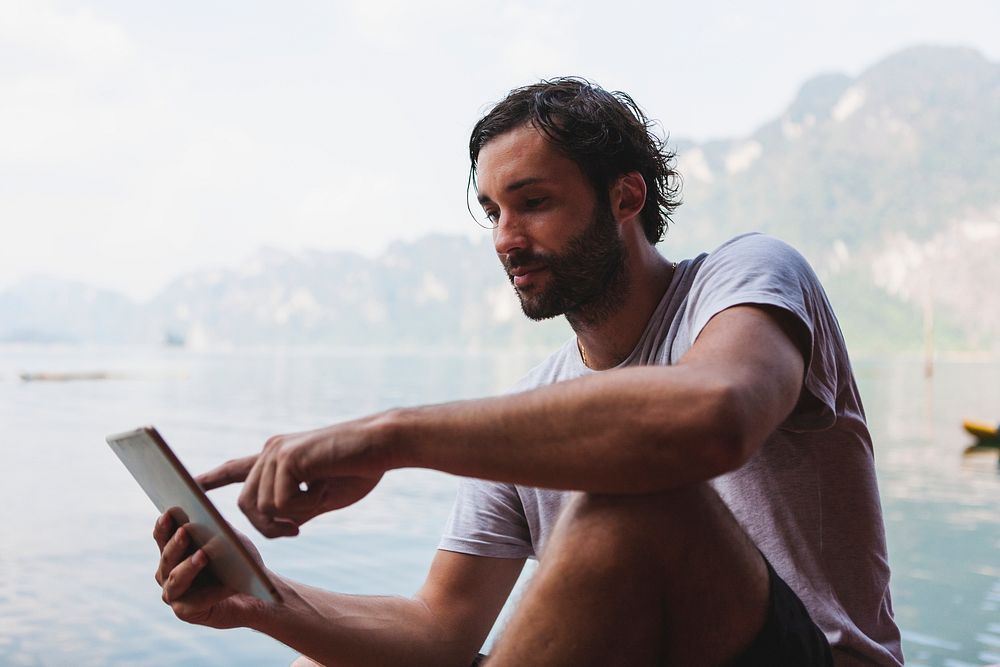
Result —
<instances>
[{"instance_id":1,"label":"man's bare arm resting across his knee, sleeve to wrist, excluding hand","mask_svg":"<svg viewBox=\"0 0 1000 667\"><path fill-rule=\"evenodd\" d=\"M674 366L394 411L390 467L599 493L710 479L742 465L798 400L804 358L782 316L725 310Z\"/></svg>"}]
</instances>

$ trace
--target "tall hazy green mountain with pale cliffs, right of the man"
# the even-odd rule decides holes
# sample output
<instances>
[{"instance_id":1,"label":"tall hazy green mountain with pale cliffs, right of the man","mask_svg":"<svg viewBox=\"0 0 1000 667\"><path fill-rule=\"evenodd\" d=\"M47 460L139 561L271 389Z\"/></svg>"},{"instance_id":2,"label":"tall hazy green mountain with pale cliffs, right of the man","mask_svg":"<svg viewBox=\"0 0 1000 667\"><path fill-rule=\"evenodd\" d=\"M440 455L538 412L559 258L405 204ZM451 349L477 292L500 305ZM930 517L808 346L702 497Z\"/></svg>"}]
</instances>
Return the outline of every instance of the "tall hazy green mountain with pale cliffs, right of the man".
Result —
<instances>
[{"instance_id":1,"label":"tall hazy green mountain with pale cliffs, right of the man","mask_svg":"<svg viewBox=\"0 0 1000 667\"><path fill-rule=\"evenodd\" d=\"M827 74L749 137L678 143L681 254L760 230L799 248L849 342L996 348L1000 66L918 47L857 77Z\"/></svg>"}]
</instances>

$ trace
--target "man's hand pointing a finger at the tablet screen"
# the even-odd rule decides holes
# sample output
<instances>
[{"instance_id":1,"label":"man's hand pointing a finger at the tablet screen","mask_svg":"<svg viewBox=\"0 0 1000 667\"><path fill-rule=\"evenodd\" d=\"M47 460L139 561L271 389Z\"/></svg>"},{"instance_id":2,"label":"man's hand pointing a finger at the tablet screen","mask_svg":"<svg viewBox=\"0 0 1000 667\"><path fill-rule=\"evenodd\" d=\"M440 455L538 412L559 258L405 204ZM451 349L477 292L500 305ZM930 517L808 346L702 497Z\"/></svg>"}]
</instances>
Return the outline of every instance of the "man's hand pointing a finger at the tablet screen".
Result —
<instances>
[{"instance_id":1,"label":"man's hand pointing a finger at the tablet screen","mask_svg":"<svg viewBox=\"0 0 1000 667\"><path fill-rule=\"evenodd\" d=\"M260 454L196 478L205 490L245 482L239 507L267 537L298 535L313 517L364 498L386 471L371 420L268 439Z\"/></svg>"}]
</instances>

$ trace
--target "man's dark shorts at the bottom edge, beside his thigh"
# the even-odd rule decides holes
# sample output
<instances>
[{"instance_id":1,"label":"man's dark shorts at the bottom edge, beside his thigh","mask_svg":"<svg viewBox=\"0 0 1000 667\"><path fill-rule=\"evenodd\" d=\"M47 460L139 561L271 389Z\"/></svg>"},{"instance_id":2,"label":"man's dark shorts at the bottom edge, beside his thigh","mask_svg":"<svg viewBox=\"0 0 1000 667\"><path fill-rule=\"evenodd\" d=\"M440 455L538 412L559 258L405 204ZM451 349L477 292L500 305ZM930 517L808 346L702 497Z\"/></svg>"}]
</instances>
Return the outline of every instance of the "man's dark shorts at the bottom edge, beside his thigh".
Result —
<instances>
[{"instance_id":1,"label":"man's dark shorts at the bottom edge, beside his thigh","mask_svg":"<svg viewBox=\"0 0 1000 667\"><path fill-rule=\"evenodd\" d=\"M770 601L764 627L753 643L730 667L833 667L833 655L826 636L816 627L799 596L767 562L771 578ZM482 665L480 654L472 667Z\"/></svg>"}]
</instances>

